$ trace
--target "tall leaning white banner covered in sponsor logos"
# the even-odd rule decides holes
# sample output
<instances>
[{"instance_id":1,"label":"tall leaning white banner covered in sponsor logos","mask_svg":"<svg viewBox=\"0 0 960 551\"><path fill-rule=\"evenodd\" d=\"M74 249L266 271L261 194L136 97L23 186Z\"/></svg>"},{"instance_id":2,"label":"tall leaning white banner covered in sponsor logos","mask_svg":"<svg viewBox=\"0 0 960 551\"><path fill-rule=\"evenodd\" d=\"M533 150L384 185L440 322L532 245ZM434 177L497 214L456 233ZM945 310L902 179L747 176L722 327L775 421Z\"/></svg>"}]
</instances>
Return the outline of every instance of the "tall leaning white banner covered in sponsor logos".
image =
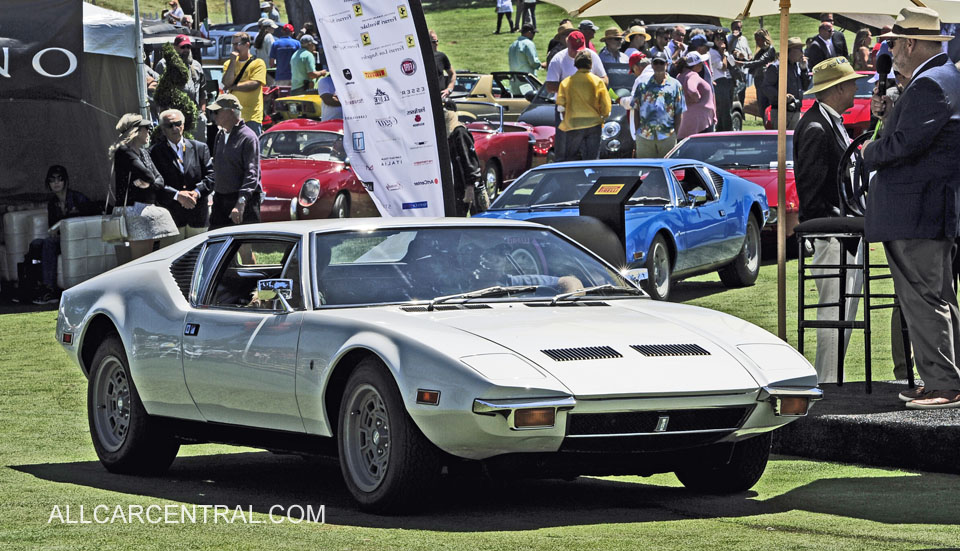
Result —
<instances>
[{"instance_id":1,"label":"tall leaning white banner covered in sponsor logos","mask_svg":"<svg viewBox=\"0 0 960 551\"><path fill-rule=\"evenodd\" d=\"M311 0L353 170L383 216L444 216L452 190L419 0Z\"/></svg>"}]
</instances>

